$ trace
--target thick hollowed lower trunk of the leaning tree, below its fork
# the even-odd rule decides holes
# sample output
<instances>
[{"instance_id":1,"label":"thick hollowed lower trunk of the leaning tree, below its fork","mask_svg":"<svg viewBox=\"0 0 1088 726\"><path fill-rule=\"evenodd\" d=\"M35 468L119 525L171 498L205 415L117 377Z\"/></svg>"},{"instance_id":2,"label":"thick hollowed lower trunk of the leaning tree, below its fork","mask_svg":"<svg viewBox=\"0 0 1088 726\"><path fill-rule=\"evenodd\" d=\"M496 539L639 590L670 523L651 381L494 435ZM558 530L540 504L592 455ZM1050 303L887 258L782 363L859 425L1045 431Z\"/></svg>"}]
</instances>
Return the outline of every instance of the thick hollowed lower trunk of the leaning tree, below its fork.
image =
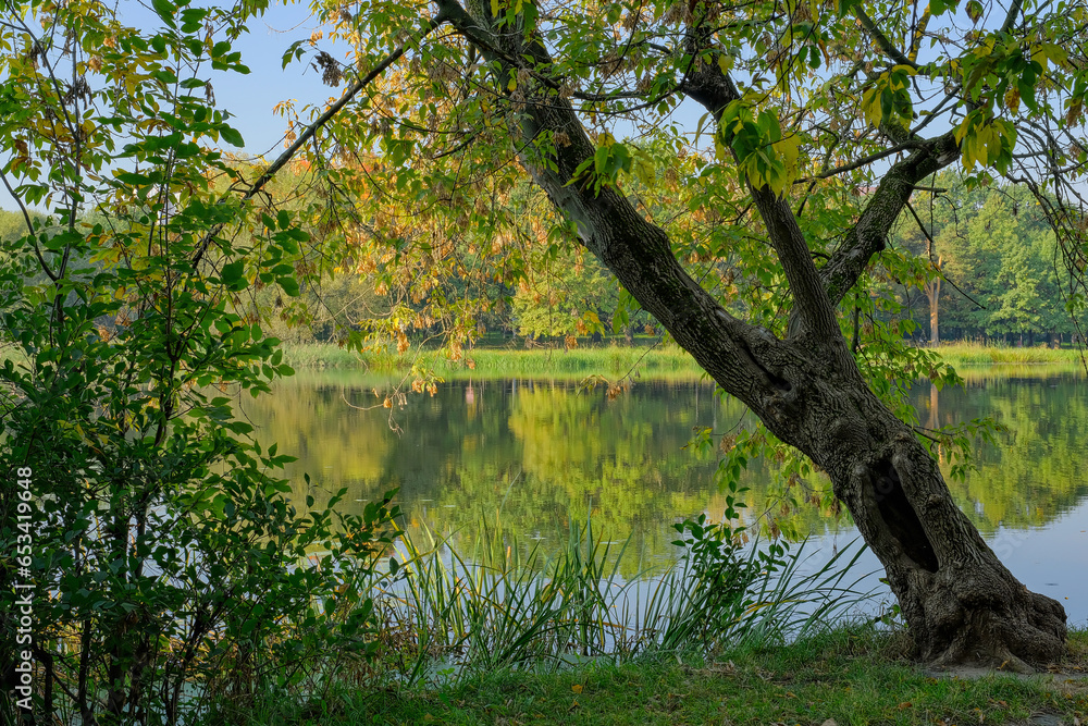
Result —
<instances>
[{"instance_id":1,"label":"thick hollowed lower trunk of the leaning tree, below its fork","mask_svg":"<svg viewBox=\"0 0 1088 726\"><path fill-rule=\"evenodd\" d=\"M918 655L938 666L1016 670L1060 657L1061 604L1013 577L956 507L913 431L855 371L820 370L813 361L821 357L781 370L794 385L767 411L768 424L830 476L885 566Z\"/></svg>"}]
</instances>

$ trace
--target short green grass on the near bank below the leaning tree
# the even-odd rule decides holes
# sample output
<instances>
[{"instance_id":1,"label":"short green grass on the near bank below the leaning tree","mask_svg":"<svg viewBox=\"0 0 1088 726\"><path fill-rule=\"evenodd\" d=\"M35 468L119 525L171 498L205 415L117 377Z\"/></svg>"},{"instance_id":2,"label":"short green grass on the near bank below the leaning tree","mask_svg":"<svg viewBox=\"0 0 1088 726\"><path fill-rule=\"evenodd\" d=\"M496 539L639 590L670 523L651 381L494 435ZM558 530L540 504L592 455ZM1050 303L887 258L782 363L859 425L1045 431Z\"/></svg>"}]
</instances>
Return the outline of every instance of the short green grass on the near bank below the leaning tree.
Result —
<instances>
[{"instance_id":1,"label":"short green grass on the near bank below the leaning tree","mask_svg":"<svg viewBox=\"0 0 1088 726\"><path fill-rule=\"evenodd\" d=\"M902 632L839 627L790 645L708 659L643 657L549 675L509 669L431 690L360 693L265 705L239 723L267 724L1075 724L1088 681L1070 675L978 679L905 660ZM1088 667L1088 633L1071 636L1064 664ZM1075 674L1072 674L1075 675ZM1049 716L1049 721L1030 721Z\"/></svg>"}]
</instances>

